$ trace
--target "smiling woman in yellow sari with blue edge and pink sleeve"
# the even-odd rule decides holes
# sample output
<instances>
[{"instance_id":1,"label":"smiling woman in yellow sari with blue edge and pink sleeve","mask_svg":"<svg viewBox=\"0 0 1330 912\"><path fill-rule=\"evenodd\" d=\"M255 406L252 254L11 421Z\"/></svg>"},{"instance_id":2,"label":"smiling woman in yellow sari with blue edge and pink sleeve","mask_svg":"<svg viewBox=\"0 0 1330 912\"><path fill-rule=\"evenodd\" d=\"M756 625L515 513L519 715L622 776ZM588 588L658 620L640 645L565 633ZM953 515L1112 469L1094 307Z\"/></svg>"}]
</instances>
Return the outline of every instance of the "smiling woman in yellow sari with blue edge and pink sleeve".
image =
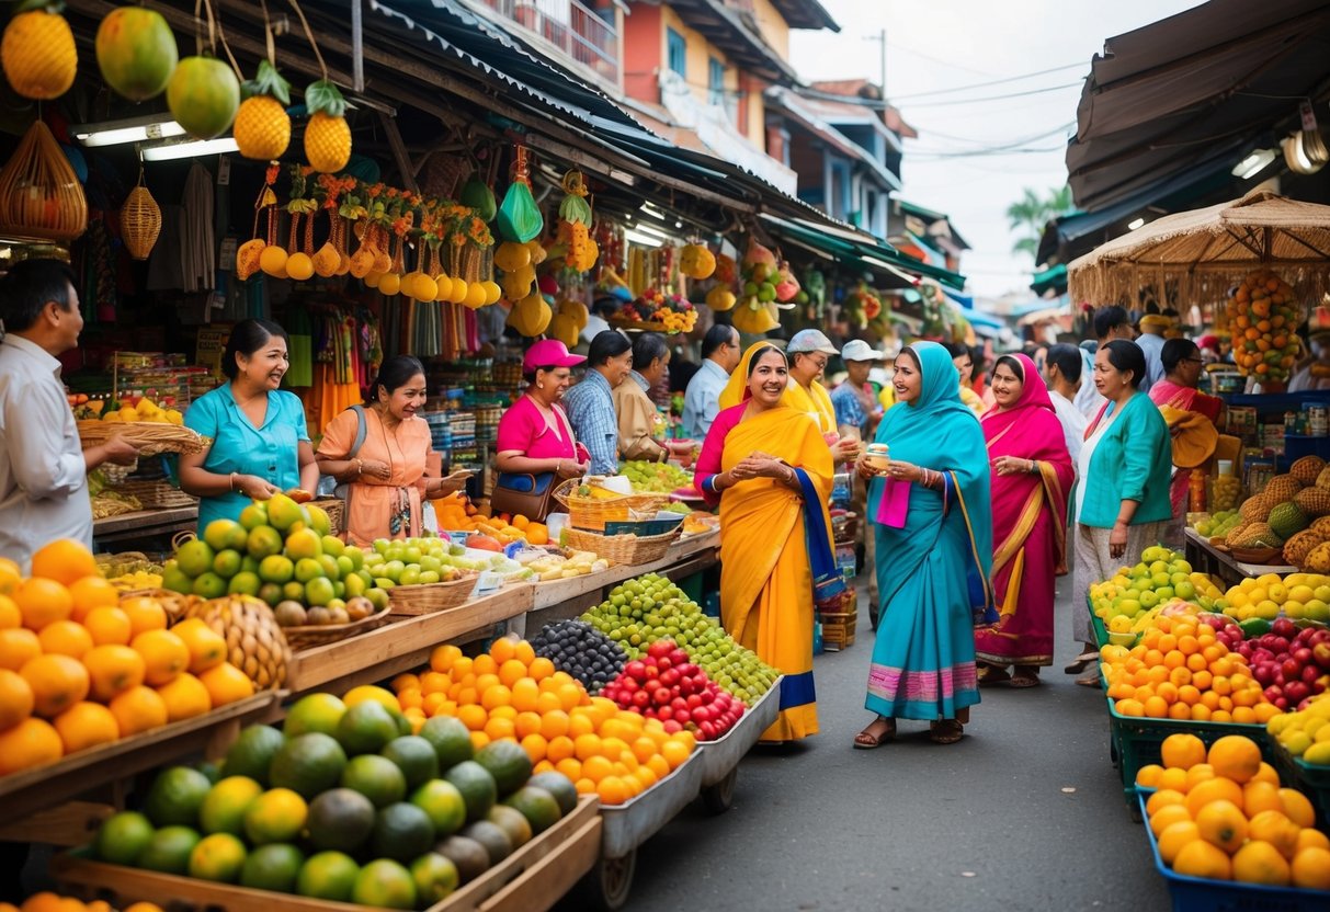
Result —
<instances>
[{"instance_id":1,"label":"smiling woman in yellow sari with blue edge and pink sleeve","mask_svg":"<svg viewBox=\"0 0 1330 912\"><path fill-rule=\"evenodd\" d=\"M721 507L721 620L742 646L783 673L781 715L763 742L818 731L813 689L814 598L843 589L831 552L831 451L818 427L782 403L785 354L747 350L716 416L696 483Z\"/></svg>"}]
</instances>

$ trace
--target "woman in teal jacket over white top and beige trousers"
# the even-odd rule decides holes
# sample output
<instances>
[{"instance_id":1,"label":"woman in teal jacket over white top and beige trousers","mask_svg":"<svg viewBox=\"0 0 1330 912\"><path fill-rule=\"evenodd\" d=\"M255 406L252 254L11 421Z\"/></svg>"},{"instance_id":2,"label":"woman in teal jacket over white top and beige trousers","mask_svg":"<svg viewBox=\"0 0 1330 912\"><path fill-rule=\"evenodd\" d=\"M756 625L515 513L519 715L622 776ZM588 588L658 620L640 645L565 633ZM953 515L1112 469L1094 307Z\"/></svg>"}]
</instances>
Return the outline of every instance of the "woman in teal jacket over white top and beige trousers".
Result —
<instances>
[{"instance_id":1,"label":"woman in teal jacket over white top and beige trousers","mask_svg":"<svg viewBox=\"0 0 1330 912\"><path fill-rule=\"evenodd\" d=\"M1072 580L1077 594L1112 577L1124 562L1138 561L1142 550L1160 542L1173 516L1169 429L1158 407L1140 391L1144 379L1145 354L1134 342L1115 339L1095 355L1095 388L1108 403L1085 431L1076 467ZM1085 653L1097 654L1088 613L1081 641ZM1097 687L1099 675L1076 683Z\"/></svg>"}]
</instances>

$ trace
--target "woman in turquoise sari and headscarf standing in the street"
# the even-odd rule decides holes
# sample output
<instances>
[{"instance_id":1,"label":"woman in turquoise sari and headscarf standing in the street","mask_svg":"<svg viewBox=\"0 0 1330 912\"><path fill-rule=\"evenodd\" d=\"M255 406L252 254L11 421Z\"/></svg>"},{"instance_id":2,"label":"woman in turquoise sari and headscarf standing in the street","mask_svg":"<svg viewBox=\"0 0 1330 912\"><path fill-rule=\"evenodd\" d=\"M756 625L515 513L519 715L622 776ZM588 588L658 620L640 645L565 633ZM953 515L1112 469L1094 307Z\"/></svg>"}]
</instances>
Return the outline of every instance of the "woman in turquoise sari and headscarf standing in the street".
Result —
<instances>
[{"instance_id":1,"label":"woman in turquoise sari and headscarf standing in the street","mask_svg":"<svg viewBox=\"0 0 1330 912\"><path fill-rule=\"evenodd\" d=\"M892 386L896 407L875 439L890 465L859 468L872 477L882 605L866 701L876 718L855 737L859 748L891 739L896 719L930 722L936 743L960 741L979 702L975 612L992 608L988 449L951 355L932 342L907 346Z\"/></svg>"}]
</instances>

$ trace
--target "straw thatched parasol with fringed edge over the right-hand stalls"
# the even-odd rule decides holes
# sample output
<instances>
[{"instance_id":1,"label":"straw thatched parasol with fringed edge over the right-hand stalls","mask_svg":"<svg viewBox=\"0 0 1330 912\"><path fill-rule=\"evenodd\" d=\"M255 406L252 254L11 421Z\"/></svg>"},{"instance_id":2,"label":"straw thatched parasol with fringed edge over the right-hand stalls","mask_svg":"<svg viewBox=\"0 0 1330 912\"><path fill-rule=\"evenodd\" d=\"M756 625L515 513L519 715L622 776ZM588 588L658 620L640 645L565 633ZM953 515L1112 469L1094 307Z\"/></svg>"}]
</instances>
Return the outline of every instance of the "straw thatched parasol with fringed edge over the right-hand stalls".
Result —
<instances>
[{"instance_id":1,"label":"straw thatched parasol with fringed edge over the right-hand stalls","mask_svg":"<svg viewBox=\"0 0 1330 912\"><path fill-rule=\"evenodd\" d=\"M1134 303L1140 288L1177 288L1186 304L1221 298L1257 267L1278 270L1301 295L1330 290L1330 206L1269 190L1165 215L1113 238L1068 267L1073 302Z\"/></svg>"}]
</instances>

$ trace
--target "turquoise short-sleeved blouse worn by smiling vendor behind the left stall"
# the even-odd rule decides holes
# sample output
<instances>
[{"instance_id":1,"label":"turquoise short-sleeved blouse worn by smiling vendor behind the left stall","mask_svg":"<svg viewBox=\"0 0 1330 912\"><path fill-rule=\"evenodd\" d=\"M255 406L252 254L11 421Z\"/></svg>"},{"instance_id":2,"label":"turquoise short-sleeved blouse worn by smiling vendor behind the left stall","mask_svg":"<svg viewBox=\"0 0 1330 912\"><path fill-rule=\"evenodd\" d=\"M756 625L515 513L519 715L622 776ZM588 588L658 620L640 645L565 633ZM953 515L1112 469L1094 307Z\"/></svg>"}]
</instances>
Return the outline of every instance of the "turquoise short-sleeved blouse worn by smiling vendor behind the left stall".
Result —
<instances>
[{"instance_id":1,"label":"turquoise short-sleeved blouse worn by smiling vendor behind the left stall","mask_svg":"<svg viewBox=\"0 0 1330 912\"><path fill-rule=\"evenodd\" d=\"M185 412L185 427L193 428L213 445L203 468L217 475L255 475L282 491L301 487L299 444L310 441L305 427L305 405L294 392L271 390L263 427L255 428L223 383L194 400ZM203 497L198 503L198 528L213 520L238 520L250 499L239 492Z\"/></svg>"}]
</instances>

